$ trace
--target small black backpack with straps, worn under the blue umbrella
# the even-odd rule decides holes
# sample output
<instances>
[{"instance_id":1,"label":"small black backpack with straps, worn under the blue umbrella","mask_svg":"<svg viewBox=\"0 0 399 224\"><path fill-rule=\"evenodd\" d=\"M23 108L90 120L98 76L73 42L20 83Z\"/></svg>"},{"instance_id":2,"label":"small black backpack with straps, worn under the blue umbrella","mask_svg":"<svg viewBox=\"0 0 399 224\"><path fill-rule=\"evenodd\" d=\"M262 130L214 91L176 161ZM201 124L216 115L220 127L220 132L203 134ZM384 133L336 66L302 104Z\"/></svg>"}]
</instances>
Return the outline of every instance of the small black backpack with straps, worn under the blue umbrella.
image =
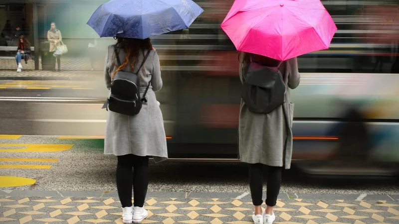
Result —
<instances>
[{"instance_id":1,"label":"small black backpack with straps, worn under the blue umbrella","mask_svg":"<svg viewBox=\"0 0 399 224\"><path fill-rule=\"evenodd\" d=\"M136 73L118 71L111 82L111 95L108 98L108 109L125 115L136 115L140 112L142 102L147 102L146 94L150 88L148 83L143 98L140 97L140 78L138 76L141 68L146 62L151 51L148 51ZM121 65L119 53L115 46L115 55L118 66Z\"/></svg>"}]
</instances>

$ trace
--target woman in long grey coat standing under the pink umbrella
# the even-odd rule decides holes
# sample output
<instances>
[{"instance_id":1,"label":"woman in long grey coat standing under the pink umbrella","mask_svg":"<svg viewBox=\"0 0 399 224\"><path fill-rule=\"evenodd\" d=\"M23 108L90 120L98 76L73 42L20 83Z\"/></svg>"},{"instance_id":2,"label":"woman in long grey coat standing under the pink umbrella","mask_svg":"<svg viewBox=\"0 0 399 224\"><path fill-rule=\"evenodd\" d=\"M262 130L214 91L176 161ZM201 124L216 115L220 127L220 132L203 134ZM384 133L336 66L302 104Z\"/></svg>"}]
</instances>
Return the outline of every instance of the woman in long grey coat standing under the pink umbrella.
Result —
<instances>
[{"instance_id":1,"label":"woman in long grey coat standing under the pink umbrella","mask_svg":"<svg viewBox=\"0 0 399 224\"><path fill-rule=\"evenodd\" d=\"M239 115L239 155L249 164L249 185L255 212L255 224L272 224L273 207L281 185L283 167L289 169L292 155L292 121L294 104L290 102L289 89L299 85L300 74L296 58L281 62L261 55L240 52L240 79L243 83L251 63L279 70L285 84L285 103L268 114L250 112L241 100ZM262 212L263 168L267 167L266 210Z\"/></svg>"}]
</instances>

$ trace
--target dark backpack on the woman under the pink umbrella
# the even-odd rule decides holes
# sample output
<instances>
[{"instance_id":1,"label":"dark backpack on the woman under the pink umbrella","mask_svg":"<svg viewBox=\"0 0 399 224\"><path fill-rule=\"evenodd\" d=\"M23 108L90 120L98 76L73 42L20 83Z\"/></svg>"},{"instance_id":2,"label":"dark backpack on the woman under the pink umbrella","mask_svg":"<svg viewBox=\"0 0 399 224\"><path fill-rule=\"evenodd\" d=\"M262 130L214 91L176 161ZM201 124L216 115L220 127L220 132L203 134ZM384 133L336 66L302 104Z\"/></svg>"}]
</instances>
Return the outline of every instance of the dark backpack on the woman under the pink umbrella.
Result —
<instances>
[{"instance_id":1,"label":"dark backpack on the woman under the pink umbrella","mask_svg":"<svg viewBox=\"0 0 399 224\"><path fill-rule=\"evenodd\" d=\"M269 113L285 103L285 84L280 71L258 66L246 72L241 98L250 112Z\"/></svg>"}]
</instances>

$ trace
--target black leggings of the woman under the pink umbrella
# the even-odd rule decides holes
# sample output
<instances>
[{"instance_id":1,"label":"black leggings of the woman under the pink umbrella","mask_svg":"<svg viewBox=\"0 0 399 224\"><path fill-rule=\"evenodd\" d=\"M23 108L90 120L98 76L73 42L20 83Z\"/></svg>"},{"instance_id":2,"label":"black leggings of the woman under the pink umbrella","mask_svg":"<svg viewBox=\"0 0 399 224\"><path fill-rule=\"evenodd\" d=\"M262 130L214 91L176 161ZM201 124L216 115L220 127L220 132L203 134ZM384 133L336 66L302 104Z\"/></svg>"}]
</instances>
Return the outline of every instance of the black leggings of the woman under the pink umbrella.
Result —
<instances>
[{"instance_id":1,"label":"black leggings of the woman under the pink umbrella","mask_svg":"<svg viewBox=\"0 0 399 224\"><path fill-rule=\"evenodd\" d=\"M261 163L249 164L249 187L252 203L260 206L263 203L263 168L267 167L266 205L275 206L281 186L282 167L267 166Z\"/></svg>"}]
</instances>

